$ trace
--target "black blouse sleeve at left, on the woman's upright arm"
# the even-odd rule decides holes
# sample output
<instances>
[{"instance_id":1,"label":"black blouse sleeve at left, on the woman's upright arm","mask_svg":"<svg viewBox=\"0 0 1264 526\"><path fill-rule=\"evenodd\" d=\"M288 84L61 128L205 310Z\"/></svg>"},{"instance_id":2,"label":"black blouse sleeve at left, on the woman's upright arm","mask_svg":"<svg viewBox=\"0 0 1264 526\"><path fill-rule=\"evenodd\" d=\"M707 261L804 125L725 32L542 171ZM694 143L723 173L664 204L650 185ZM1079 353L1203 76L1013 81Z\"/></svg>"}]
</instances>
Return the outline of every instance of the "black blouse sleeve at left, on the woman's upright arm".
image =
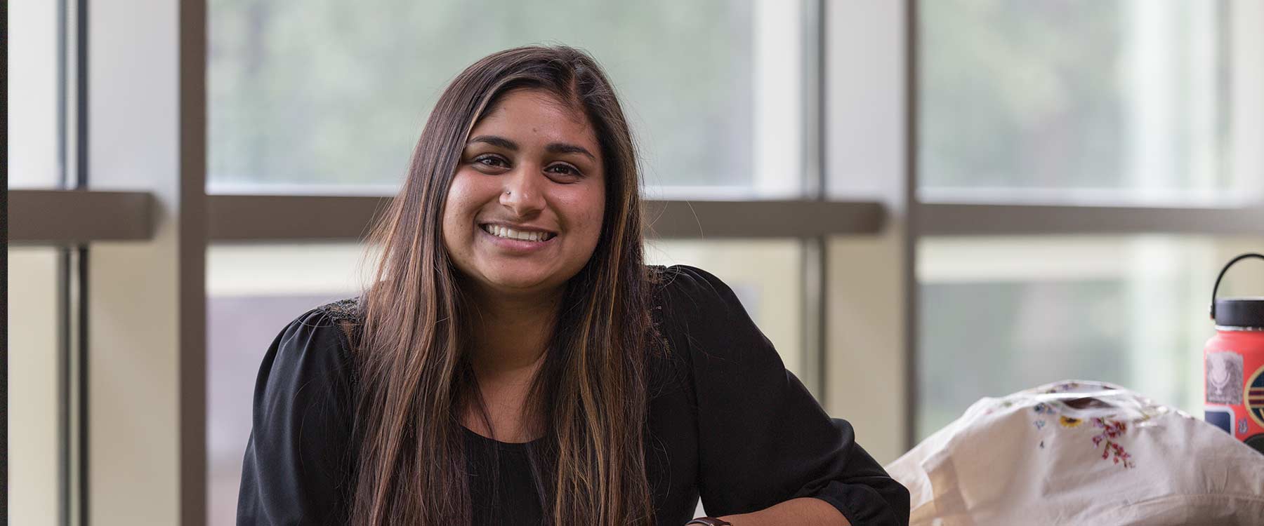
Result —
<instances>
[{"instance_id":1,"label":"black blouse sleeve at left, on the woman's upright arm","mask_svg":"<svg viewBox=\"0 0 1264 526\"><path fill-rule=\"evenodd\" d=\"M341 328L320 310L291 322L259 367L239 526L346 523L351 404Z\"/></svg>"}]
</instances>

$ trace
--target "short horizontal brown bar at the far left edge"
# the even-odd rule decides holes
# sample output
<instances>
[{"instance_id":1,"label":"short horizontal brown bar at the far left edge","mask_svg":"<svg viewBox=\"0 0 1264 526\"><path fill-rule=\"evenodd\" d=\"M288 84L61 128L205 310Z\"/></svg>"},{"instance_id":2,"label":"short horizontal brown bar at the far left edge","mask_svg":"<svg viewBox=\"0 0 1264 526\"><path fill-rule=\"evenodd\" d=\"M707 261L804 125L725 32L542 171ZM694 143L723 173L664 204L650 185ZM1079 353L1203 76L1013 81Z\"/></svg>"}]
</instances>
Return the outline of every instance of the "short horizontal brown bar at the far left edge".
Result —
<instances>
[{"instance_id":1,"label":"short horizontal brown bar at the far left edge","mask_svg":"<svg viewBox=\"0 0 1264 526\"><path fill-rule=\"evenodd\" d=\"M148 192L9 190L9 241L85 243L153 237Z\"/></svg>"}]
</instances>

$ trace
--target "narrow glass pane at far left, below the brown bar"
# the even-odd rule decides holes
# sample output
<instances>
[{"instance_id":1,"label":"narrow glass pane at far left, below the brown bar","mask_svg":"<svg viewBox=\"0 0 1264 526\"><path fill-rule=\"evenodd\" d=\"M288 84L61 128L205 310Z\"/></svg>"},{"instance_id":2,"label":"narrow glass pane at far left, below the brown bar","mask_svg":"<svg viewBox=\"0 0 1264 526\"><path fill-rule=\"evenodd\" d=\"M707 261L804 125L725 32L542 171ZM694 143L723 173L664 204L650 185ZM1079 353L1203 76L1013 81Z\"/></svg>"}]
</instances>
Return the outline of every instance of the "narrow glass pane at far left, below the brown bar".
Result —
<instances>
[{"instance_id":1,"label":"narrow glass pane at far left, below the brown bar","mask_svg":"<svg viewBox=\"0 0 1264 526\"><path fill-rule=\"evenodd\" d=\"M53 526L62 503L61 250L8 254L9 523Z\"/></svg>"}]
</instances>

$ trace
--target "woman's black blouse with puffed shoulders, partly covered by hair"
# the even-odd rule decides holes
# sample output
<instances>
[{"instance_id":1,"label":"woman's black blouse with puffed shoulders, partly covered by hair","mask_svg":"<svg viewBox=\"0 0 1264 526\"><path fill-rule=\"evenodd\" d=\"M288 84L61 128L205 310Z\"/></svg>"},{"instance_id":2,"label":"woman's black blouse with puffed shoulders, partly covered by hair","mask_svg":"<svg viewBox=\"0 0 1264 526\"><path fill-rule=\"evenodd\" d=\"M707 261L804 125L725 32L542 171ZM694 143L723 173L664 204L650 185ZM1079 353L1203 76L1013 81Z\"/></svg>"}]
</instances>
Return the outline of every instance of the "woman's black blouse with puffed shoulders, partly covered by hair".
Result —
<instances>
[{"instance_id":1,"label":"woman's black blouse with puffed shoulders, partly covered by hair","mask_svg":"<svg viewBox=\"0 0 1264 526\"><path fill-rule=\"evenodd\" d=\"M650 367L645 449L656 522L684 525L700 496L712 516L815 497L852 525L906 525L908 489L785 370L732 289L696 267L653 269L655 320L670 348ZM291 322L263 358L238 525L346 523L354 382L336 305ZM471 497L485 503L475 505L475 523L542 523L530 445L465 434Z\"/></svg>"}]
</instances>

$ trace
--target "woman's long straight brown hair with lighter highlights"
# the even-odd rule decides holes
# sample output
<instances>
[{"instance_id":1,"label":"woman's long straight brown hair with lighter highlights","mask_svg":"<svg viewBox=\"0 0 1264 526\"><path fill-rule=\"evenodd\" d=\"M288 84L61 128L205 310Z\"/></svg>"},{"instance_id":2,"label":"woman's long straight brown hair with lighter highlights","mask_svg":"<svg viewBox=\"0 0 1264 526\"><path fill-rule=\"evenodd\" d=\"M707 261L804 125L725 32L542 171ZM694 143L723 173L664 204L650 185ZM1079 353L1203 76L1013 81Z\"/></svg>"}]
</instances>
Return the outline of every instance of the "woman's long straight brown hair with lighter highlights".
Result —
<instances>
[{"instance_id":1,"label":"woman's long straight brown hair with lighter highlights","mask_svg":"<svg viewBox=\"0 0 1264 526\"><path fill-rule=\"evenodd\" d=\"M597 62L569 47L494 53L439 98L399 194L374 225L380 251L360 298L351 523L471 521L461 409L478 404L470 307L444 250L449 185L469 132L512 90L542 90L588 117L602 150L605 214L588 264L566 285L556 329L527 399L544 423L532 443L546 522L653 522L642 448L646 356L657 349L642 259L636 150Z\"/></svg>"}]
</instances>

